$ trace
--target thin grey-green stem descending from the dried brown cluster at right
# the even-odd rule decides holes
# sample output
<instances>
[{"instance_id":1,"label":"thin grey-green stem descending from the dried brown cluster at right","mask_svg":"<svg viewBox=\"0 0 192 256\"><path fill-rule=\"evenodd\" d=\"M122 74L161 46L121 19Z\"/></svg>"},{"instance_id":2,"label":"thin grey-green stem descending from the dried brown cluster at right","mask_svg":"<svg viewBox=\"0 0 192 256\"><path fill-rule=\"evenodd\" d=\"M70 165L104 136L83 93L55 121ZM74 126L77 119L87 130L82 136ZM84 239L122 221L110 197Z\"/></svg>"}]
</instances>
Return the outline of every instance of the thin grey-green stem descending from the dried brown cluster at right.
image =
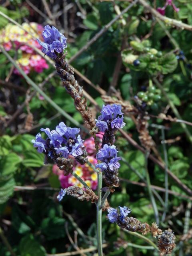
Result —
<instances>
[{"instance_id":1,"label":"thin grey-green stem descending from the dried brown cluster at right","mask_svg":"<svg viewBox=\"0 0 192 256\"><path fill-rule=\"evenodd\" d=\"M147 182L148 193L149 193L150 200L151 200L151 203L152 203L152 206L153 206L156 222L157 222L157 224L159 224L158 209L157 209L157 205L156 205L156 202L155 202L155 198L154 198L153 193L152 193L151 182L150 182L149 172L148 172L148 168L147 168L148 155L149 155L149 152L147 152L146 155L145 155L146 182Z\"/></svg>"}]
</instances>

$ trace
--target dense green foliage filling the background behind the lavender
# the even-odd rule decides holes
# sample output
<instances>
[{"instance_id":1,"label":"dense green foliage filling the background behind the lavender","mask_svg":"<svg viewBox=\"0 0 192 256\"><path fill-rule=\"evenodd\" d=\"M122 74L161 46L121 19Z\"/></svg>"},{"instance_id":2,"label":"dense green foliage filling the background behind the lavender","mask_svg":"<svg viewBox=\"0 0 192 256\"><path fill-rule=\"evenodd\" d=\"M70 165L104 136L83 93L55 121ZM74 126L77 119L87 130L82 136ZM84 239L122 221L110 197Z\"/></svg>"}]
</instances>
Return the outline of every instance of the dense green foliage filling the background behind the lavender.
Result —
<instances>
[{"instance_id":1,"label":"dense green foliage filling the background behind the lavender","mask_svg":"<svg viewBox=\"0 0 192 256\"><path fill-rule=\"evenodd\" d=\"M62 1L47 1L50 10L55 12L62 10ZM78 5L84 9L84 16L77 15L80 12ZM156 6L162 6L164 1L154 1ZM151 0L149 4L153 6ZM93 0L67 1L72 3L73 8L68 13L68 31L73 36L68 36L68 59L74 56L94 35L100 31L116 14L116 6L123 10L128 6L126 1L101 2ZM192 4L190 0L175 0L174 3L180 8L178 13L173 12L171 6L166 9L166 16L182 20L192 26ZM54 6L56 10L54 10ZM37 7L42 10L41 3ZM19 23L24 19L38 22L46 25L48 22L22 0L11 1L7 7L0 7L0 11ZM47 14L46 14L47 15ZM74 15L73 21L70 17ZM123 25L123 20L125 25ZM57 28L63 32L63 18L56 18ZM8 24L8 20L0 16L0 28ZM72 30L70 25L73 25ZM168 36L169 33L169 36ZM124 47L122 49L122 42ZM86 76L92 83L99 84L106 91L109 90L112 83L113 74L116 72L116 62L118 56L122 56L122 66L118 74L118 83L116 90L121 93L124 100L129 100L135 105L134 96L142 91L142 86L148 88L149 81L158 78L163 86L170 101L178 109L183 120L192 122L192 32L171 27L155 20L152 15L144 10L143 6L136 4L124 16L115 22L106 33L104 33L94 44L84 51L74 62L72 66ZM178 60L180 51L184 52L184 60ZM14 51L10 52L13 57ZM134 66L131 59L137 56L140 61L138 66ZM0 79L4 80L10 72L12 64L6 57L0 53ZM39 84L54 71L50 65L48 70L41 74L31 74L30 78ZM89 86L86 82L77 76L78 81L83 88L96 100L99 106L103 101L100 94ZM18 76L12 75L11 82L29 88L27 82ZM158 87L153 84L156 89ZM3 86L1 87L3 89ZM75 120L82 123L82 118L73 104L73 100L66 94L58 76L52 77L46 86L44 92L50 98L70 114ZM2 102L4 100L4 91L0 92ZM148 104L148 113L158 116L159 113L167 110L167 114L174 116L172 109L168 106L168 101L162 92L158 91L160 100L153 104ZM0 117L11 118L16 110L15 106L20 106L25 100L25 95L19 92L11 92L11 97L15 97L14 104L7 108L5 104L0 105ZM5 107L4 107L5 106ZM89 102L89 106L94 108ZM74 251L74 248L68 240L66 227L74 237L74 223L83 231L78 235L78 246L80 248L89 248L96 246L96 209L95 206L87 202L79 202L74 198L66 196L61 203L56 200L60 184L57 176L52 174L52 165L43 165L44 156L38 154L33 148L31 140L39 131L40 127L50 127L53 129L58 122L64 121L67 126L73 126L70 121L62 116L56 115L57 112L45 100L40 100L36 94L29 103L30 111L34 116L34 125L38 128L30 132L22 132L20 125L24 122L22 117L14 120L10 126L2 124L0 136L0 226L11 244L14 252L18 256L45 256L47 253L61 253ZM24 108L24 113L27 111ZM56 116L55 116L56 115ZM52 118L54 116L54 118ZM126 126L124 130L140 144L138 132L134 122L130 117L125 118ZM164 158L162 148L161 130L158 126L163 125L168 128L166 132L166 144L168 154L168 167L179 180L192 189L192 158L191 141L186 136L180 123L151 118L149 120L150 135L156 142L156 147ZM192 126L187 126L192 133ZM88 136L85 136L87 138ZM178 140L175 140L178 138ZM120 188L117 188L114 194L110 196L110 205L118 207L126 205L132 209L132 216L142 222L151 224L155 221L152 204L146 187L138 186L132 182L143 182L141 176L145 177L145 158L139 150L129 144L121 134L117 134L116 145L120 150L121 156L126 160L121 162L120 178L129 180L122 181ZM126 162L128 164L126 164ZM148 162L151 184L164 188L164 171L154 162ZM180 195L187 195L174 180L169 178L169 189ZM42 189L41 184L46 184ZM36 189L22 189L33 186ZM158 194L164 200L164 192ZM190 205L191 198L169 194L168 209L166 220L160 223L162 229L171 228L177 237L177 247L172 255L191 255L192 240L180 242L180 236L185 228L190 229L192 219L188 218L186 223L186 208ZM162 216L163 207L156 199L160 216ZM69 219L70 214L73 219ZM188 214L190 210L188 210ZM67 226L66 226L67 225ZM127 246L120 249L114 247L113 242L117 238L136 244L147 245L142 239L136 238L130 234L124 234L118 226L110 224L106 220L106 213L103 214L103 242L109 243L104 249L106 255L158 255L153 250L145 248L134 248ZM148 236L150 240L154 240ZM154 240L155 241L155 240ZM3 243L0 244L0 255L10 256ZM96 255L95 252L86 255Z\"/></svg>"}]
</instances>

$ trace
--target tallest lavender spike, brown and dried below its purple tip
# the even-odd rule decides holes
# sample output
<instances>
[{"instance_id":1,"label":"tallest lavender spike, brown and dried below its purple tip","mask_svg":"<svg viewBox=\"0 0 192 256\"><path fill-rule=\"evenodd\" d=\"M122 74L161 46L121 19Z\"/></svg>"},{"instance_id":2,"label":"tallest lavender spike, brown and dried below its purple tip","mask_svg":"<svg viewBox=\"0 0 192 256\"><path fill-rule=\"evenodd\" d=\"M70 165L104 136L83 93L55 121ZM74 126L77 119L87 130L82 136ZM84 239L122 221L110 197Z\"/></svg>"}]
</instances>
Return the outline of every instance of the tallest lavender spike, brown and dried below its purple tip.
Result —
<instances>
[{"instance_id":1,"label":"tallest lavender spike, brown and dried below its purple tip","mask_svg":"<svg viewBox=\"0 0 192 256\"><path fill-rule=\"evenodd\" d=\"M86 99L83 98L82 86L74 78L73 69L67 64L64 54L64 49L67 47L66 40L54 26L45 26L42 33L44 42L39 42L42 45L42 52L54 59L56 70L60 76L64 87L68 94L74 99L74 105L76 109L82 115L82 118L89 130L93 130L95 127L95 121L92 118L91 111L87 109Z\"/></svg>"}]
</instances>

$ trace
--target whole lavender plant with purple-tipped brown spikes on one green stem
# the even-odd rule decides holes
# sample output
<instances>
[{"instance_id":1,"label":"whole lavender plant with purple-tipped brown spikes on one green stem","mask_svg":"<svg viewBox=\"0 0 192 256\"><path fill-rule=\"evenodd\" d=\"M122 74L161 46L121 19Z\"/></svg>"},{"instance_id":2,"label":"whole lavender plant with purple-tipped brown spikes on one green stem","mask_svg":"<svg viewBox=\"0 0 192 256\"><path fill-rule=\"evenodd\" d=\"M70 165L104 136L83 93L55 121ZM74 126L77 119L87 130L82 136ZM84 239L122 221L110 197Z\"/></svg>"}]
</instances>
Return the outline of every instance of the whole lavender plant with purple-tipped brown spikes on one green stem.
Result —
<instances>
[{"instance_id":1,"label":"whole lavender plant with purple-tipped brown spikes on one green stem","mask_svg":"<svg viewBox=\"0 0 192 256\"><path fill-rule=\"evenodd\" d=\"M158 237L158 248L160 254L168 254L175 247L175 236L172 230L162 232L156 224L150 226L148 223L141 223L133 217L128 217L131 210L126 206L119 206L120 212L115 208L111 208L108 204L107 197L110 192L114 192L113 187L119 186L118 169L120 168L118 157L118 149L114 145L115 134L118 129L125 126L122 107L119 104L108 104L102 107L101 115L98 116L96 122L92 119L92 114L87 108L86 99L83 98L82 87L78 84L73 76L73 70L67 64L65 57L66 38L54 27L45 26L43 32L44 42L38 42L42 45L42 52L52 58L66 91L74 99L76 109L82 115L82 118L90 131L90 134L96 134L98 130L104 132L102 139L102 148L98 150L96 158L98 164L93 166L88 162L86 148L80 136L79 128L67 127L64 122L60 122L55 130L50 131L49 128L41 128L47 136L44 140L40 133L36 135L36 139L32 140L34 147L39 153L45 154L44 163L48 163L51 158L60 170L64 170L65 175L73 174L82 183L84 188L78 186L70 186L61 189L57 198L59 201L66 195L78 198L78 200L87 200L96 204L97 208L97 242L98 255L102 256L102 210L108 210L108 220L116 223L120 228L130 232L142 232L143 235L151 232L154 237ZM95 141L95 144L97 142ZM97 195L87 184L76 174L73 173L72 158L75 158L80 164L88 163L98 175ZM102 179L106 183L106 187L102 188ZM102 197L102 192L105 194Z\"/></svg>"}]
</instances>

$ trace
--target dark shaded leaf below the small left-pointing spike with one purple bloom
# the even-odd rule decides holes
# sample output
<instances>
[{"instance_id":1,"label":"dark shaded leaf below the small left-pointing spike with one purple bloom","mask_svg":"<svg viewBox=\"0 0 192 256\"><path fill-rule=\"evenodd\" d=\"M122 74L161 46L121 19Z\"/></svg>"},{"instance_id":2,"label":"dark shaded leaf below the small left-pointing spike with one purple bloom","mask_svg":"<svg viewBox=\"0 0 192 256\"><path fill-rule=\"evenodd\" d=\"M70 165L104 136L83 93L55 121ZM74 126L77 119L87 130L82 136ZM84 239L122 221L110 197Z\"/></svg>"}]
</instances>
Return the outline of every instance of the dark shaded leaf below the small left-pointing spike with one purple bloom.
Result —
<instances>
[{"instance_id":1,"label":"dark shaded leaf below the small left-pointing spike with one purple bloom","mask_svg":"<svg viewBox=\"0 0 192 256\"><path fill-rule=\"evenodd\" d=\"M45 218L41 224L42 233L48 240L63 238L66 236L65 222L64 218Z\"/></svg>"}]
</instances>

